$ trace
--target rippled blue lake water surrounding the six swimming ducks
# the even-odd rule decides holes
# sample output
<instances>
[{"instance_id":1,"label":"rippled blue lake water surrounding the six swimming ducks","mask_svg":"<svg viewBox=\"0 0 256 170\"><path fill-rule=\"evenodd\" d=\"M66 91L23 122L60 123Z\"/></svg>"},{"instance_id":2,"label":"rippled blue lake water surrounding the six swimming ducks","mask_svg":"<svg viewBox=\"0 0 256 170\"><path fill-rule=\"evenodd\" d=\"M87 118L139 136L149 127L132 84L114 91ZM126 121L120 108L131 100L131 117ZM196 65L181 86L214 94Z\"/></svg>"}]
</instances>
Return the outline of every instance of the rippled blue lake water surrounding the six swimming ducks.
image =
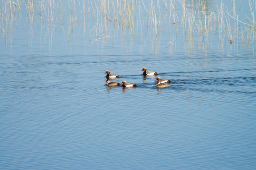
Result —
<instances>
[{"instance_id":1,"label":"rippled blue lake water surrounding the six swimming ducks","mask_svg":"<svg viewBox=\"0 0 256 170\"><path fill-rule=\"evenodd\" d=\"M42 21L38 3L31 22L21 6L1 32L1 170L255 169L255 42L191 38L164 18L157 32L110 21L102 34L77 3L77 18L63 4L65 24ZM249 17L248 2L236 3ZM171 87L156 88L143 67ZM106 70L138 86L108 88Z\"/></svg>"}]
</instances>

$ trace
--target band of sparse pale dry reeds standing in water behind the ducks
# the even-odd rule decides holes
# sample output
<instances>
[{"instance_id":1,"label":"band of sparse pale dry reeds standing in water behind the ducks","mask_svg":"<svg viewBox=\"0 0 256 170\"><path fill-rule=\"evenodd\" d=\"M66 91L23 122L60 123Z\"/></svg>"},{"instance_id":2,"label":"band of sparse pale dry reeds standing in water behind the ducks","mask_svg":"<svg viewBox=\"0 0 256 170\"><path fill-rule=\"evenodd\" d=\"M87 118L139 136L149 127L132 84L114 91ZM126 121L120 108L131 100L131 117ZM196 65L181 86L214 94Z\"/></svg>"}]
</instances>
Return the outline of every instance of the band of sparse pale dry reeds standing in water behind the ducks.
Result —
<instances>
[{"instance_id":1,"label":"band of sparse pale dry reeds standing in water behind the ducks","mask_svg":"<svg viewBox=\"0 0 256 170\"><path fill-rule=\"evenodd\" d=\"M67 30L68 40L72 34L74 36L73 28L82 21L84 34L88 32L93 40L106 43L117 36L114 30L120 28L123 36L128 33L132 39L138 31L143 37L148 28L157 37L164 24L169 25L173 38L181 26L184 42L190 43L192 48L197 42L207 48L212 34L217 34L220 43L235 40L245 44L256 42L256 0L248 0L250 16L245 17L237 15L235 0L231 10L225 6L225 1L221 1L216 10L209 8L205 0L83 0L78 1L79 5L76 2L68 0L68 7L64 7L61 0L2 0L0 31L6 34L7 28L12 28L12 23L19 17L21 8L26 8L31 25L38 17L38 24L60 27L64 33ZM88 19L94 21L92 30L86 30L85 21ZM152 43L158 40L156 38ZM169 44L173 45L174 39L170 40Z\"/></svg>"}]
</instances>

